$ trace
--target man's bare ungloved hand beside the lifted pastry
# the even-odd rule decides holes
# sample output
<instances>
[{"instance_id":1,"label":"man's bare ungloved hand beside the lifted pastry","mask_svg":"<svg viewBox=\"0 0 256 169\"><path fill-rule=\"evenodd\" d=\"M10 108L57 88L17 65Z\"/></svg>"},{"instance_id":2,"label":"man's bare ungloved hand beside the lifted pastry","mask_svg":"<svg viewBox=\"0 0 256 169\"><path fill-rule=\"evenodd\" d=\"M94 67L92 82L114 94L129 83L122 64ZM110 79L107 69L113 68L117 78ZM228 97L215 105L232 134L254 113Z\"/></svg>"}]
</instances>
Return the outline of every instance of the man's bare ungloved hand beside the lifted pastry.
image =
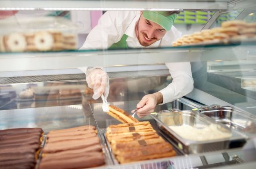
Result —
<instances>
[{"instance_id":1,"label":"man's bare ungloved hand beside the lifted pastry","mask_svg":"<svg viewBox=\"0 0 256 169\"><path fill-rule=\"evenodd\" d=\"M163 102L163 96L162 93L156 92L153 94L147 94L145 95L141 101L137 104L137 115L139 118L142 118L146 115L149 115L150 113L154 112L154 108L157 104L161 104ZM135 110L132 110L132 113Z\"/></svg>"}]
</instances>

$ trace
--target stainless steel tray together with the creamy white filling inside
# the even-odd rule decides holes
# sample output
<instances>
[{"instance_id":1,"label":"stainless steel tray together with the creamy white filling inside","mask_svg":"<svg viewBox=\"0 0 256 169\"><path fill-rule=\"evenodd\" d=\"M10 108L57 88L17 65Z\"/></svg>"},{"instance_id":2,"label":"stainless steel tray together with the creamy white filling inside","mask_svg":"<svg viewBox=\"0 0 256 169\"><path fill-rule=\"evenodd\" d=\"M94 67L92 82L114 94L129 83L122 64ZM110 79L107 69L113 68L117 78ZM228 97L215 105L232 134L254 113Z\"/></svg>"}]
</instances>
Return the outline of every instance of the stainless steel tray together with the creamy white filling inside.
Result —
<instances>
[{"instance_id":1,"label":"stainless steel tray together with the creamy white filling inside","mask_svg":"<svg viewBox=\"0 0 256 169\"><path fill-rule=\"evenodd\" d=\"M196 111L172 109L151 116L162 133L184 154L242 147L247 139L243 133Z\"/></svg>"}]
</instances>

